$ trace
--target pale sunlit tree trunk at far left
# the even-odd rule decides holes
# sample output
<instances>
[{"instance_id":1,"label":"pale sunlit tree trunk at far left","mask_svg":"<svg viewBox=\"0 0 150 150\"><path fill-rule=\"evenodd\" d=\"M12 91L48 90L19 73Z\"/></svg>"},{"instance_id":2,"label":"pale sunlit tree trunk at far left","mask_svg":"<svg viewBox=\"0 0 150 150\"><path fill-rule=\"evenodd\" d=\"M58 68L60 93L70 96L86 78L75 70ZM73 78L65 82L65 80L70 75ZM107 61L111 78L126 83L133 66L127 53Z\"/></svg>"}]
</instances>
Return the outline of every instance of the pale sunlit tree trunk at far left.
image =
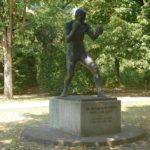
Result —
<instances>
[{"instance_id":1,"label":"pale sunlit tree trunk at far left","mask_svg":"<svg viewBox=\"0 0 150 150\"><path fill-rule=\"evenodd\" d=\"M13 98L12 85L12 28L13 28L14 0L9 1L9 23L3 36L4 51L4 95Z\"/></svg>"}]
</instances>

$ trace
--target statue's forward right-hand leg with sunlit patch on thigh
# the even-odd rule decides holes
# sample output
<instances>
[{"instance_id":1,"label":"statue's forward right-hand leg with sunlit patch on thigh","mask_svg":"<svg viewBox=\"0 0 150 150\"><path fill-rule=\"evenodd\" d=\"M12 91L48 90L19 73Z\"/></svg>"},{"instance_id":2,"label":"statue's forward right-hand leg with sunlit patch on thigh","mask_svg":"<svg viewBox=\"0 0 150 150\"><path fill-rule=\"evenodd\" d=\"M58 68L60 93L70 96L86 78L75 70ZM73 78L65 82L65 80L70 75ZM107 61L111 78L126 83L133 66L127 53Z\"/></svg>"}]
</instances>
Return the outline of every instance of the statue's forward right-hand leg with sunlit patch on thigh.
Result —
<instances>
[{"instance_id":1,"label":"statue's forward right-hand leg with sunlit patch on thigh","mask_svg":"<svg viewBox=\"0 0 150 150\"><path fill-rule=\"evenodd\" d=\"M82 62L93 74L94 82L98 91L98 96L100 97L106 96L105 93L102 91L100 74L95 61L90 56L85 55L82 58Z\"/></svg>"}]
</instances>

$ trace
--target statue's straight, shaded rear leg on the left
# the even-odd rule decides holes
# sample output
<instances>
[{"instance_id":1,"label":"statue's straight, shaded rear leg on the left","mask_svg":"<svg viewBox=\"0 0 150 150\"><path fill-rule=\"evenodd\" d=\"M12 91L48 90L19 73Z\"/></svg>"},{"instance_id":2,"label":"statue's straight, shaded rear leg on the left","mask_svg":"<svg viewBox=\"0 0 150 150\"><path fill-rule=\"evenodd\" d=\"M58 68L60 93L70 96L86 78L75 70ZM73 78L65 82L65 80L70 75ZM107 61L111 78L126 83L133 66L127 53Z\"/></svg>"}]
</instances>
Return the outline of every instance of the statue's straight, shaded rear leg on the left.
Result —
<instances>
[{"instance_id":1,"label":"statue's straight, shaded rear leg on the left","mask_svg":"<svg viewBox=\"0 0 150 150\"><path fill-rule=\"evenodd\" d=\"M74 74L74 68L75 68L75 62L67 60L67 73L64 80L64 89L60 95L62 97L67 96L68 87L70 85L71 79Z\"/></svg>"}]
</instances>

